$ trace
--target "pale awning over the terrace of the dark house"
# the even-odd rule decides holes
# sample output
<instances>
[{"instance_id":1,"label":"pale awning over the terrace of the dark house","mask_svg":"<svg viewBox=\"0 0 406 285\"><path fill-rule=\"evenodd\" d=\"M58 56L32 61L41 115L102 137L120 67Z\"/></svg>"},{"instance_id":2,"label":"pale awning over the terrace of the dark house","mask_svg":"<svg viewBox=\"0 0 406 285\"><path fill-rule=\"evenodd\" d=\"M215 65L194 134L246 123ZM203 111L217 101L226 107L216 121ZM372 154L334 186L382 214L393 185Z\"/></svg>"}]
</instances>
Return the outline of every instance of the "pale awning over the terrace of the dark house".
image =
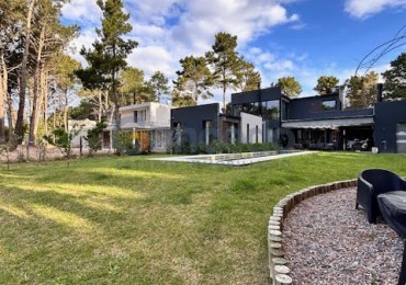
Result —
<instances>
[{"instance_id":1,"label":"pale awning over the terrace of the dark house","mask_svg":"<svg viewBox=\"0 0 406 285\"><path fill-rule=\"evenodd\" d=\"M373 117L342 117L325 119L291 119L282 122L284 128L337 129L339 127L372 126Z\"/></svg>"}]
</instances>

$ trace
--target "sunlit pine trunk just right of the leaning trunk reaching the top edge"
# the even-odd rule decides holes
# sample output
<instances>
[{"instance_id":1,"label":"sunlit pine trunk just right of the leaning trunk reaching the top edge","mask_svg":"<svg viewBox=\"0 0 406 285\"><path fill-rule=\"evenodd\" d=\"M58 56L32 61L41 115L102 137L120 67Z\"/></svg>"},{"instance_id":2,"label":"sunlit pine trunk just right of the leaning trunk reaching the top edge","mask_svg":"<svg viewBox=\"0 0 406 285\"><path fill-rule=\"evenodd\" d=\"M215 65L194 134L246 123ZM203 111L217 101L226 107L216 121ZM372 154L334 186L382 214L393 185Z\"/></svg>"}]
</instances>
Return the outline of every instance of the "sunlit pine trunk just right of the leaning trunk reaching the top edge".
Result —
<instances>
[{"instance_id":1,"label":"sunlit pine trunk just right of the leaning trunk reaching the top edge","mask_svg":"<svg viewBox=\"0 0 406 285\"><path fill-rule=\"evenodd\" d=\"M41 29L41 35L40 35L40 42L38 42L38 53L36 56L36 66L35 66L35 72L34 72L34 89L33 89L33 101L32 101L32 113L31 113L31 119L30 119L30 136L29 141L31 145L35 145L36 140L36 130L38 127L38 109L40 104L42 102L41 100L41 57L42 57L42 50L44 47L44 36L45 36L45 27L43 26Z\"/></svg>"}]
</instances>

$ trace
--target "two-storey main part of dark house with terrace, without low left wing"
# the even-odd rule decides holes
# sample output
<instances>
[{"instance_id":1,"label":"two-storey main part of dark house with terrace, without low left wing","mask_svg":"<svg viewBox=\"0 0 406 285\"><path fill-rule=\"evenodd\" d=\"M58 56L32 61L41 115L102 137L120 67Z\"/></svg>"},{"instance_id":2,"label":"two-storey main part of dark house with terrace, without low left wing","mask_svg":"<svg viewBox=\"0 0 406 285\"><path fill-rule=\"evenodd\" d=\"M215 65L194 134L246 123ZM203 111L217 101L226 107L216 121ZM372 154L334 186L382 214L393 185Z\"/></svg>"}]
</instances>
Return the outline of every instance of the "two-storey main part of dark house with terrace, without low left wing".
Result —
<instances>
[{"instance_id":1,"label":"two-storey main part of dark house with terrace, without low left wing","mask_svg":"<svg viewBox=\"0 0 406 285\"><path fill-rule=\"evenodd\" d=\"M345 110L342 94L290 99L280 88L232 94L233 115L247 112L263 118L264 141L286 148L371 149L406 152L406 101L370 109Z\"/></svg>"}]
</instances>

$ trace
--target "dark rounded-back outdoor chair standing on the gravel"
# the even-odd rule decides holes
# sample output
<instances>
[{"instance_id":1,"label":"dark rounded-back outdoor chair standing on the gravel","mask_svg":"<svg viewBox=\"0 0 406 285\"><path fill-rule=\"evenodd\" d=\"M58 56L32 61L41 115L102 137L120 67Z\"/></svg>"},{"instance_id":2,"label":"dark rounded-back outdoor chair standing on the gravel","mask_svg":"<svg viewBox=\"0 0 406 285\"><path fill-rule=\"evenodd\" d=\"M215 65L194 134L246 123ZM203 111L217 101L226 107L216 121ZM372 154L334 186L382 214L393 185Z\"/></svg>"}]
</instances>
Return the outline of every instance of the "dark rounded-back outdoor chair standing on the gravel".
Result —
<instances>
[{"instance_id":1,"label":"dark rounded-back outdoor chair standing on the gravel","mask_svg":"<svg viewBox=\"0 0 406 285\"><path fill-rule=\"evenodd\" d=\"M356 208L361 205L370 224L376 223L380 213L377 195L391 191L406 191L406 181L384 169L366 169L358 176Z\"/></svg>"}]
</instances>

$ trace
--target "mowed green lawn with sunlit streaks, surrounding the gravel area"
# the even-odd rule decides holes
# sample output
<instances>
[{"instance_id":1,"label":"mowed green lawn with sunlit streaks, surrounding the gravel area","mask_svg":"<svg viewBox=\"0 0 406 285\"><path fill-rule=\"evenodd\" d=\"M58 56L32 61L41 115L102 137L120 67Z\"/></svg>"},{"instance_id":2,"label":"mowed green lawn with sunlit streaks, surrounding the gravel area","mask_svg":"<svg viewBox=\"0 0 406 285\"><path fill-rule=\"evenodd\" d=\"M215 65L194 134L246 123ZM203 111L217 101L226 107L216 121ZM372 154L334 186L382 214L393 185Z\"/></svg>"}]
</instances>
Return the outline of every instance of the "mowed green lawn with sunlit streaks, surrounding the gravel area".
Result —
<instances>
[{"instance_id":1,"label":"mowed green lawn with sunlit streaks, surrounding the gravel area","mask_svg":"<svg viewBox=\"0 0 406 285\"><path fill-rule=\"evenodd\" d=\"M97 158L0 171L0 284L268 284L273 205L406 156L317 152L230 168Z\"/></svg>"}]
</instances>

